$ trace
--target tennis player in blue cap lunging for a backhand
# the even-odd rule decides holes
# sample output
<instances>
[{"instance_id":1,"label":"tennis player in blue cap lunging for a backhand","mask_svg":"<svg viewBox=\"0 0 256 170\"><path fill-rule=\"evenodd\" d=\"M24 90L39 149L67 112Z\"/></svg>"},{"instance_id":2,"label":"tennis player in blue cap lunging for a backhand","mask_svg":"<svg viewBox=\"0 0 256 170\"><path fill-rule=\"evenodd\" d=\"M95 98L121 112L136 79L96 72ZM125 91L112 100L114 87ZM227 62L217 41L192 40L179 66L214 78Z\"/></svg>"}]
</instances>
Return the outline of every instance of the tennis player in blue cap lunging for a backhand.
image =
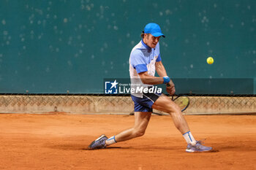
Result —
<instances>
[{"instance_id":1,"label":"tennis player in blue cap lunging for a backhand","mask_svg":"<svg viewBox=\"0 0 256 170\"><path fill-rule=\"evenodd\" d=\"M133 47L129 57L129 75L131 89L148 91L153 85L166 84L170 95L175 93L175 86L167 76L159 50L159 39L165 37L157 23L148 23L143 33L142 40ZM155 71L159 77L155 77ZM147 90L144 90L148 88ZM211 147L206 147L196 141L189 130L189 125L181 113L181 109L170 98L161 93L143 93L141 90L131 90L132 101L135 104L135 125L120 134L108 138L104 134L91 142L90 150L102 149L116 142L127 141L145 134L153 109L167 112L173 118L174 125L184 136L187 142L187 152L208 152Z\"/></svg>"}]
</instances>

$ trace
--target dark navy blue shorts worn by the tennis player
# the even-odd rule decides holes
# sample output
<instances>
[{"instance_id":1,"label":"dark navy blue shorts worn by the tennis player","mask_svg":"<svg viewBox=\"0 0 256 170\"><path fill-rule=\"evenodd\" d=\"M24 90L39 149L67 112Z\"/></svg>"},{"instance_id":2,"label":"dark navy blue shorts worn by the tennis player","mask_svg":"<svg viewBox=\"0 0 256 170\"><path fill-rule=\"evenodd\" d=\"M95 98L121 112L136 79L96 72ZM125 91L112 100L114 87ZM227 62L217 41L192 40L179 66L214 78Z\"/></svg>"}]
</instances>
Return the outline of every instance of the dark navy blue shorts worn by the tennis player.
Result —
<instances>
[{"instance_id":1,"label":"dark navy blue shorts worn by the tennis player","mask_svg":"<svg viewBox=\"0 0 256 170\"><path fill-rule=\"evenodd\" d=\"M143 93L143 98L132 96L132 101L135 103L135 112L152 112L152 105L161 93Z\"/></svg>"}]
</instances>

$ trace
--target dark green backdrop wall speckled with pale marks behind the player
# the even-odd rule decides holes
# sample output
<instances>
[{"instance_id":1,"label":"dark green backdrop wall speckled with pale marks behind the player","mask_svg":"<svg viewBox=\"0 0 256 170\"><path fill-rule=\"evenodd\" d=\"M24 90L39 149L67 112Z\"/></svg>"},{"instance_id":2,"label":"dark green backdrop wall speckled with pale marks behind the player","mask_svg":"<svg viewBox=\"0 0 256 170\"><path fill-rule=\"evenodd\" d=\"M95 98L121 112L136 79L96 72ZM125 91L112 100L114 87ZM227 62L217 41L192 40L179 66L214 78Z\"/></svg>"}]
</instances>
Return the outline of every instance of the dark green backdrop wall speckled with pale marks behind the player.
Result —
<instances>
[{"instance_id":1,"label":"dark green backdrop wall speckled with pale marks behind the player","mask_svg":"<svg viewBox=\"0 0 256 170\"><path fill-rule=\"evenodd\" d=\"M129 77L150 22L170 77L252 79L256 93L255 0L0 1L0 93L103 93L105 78Z\"/></svg>"}]
</instances>

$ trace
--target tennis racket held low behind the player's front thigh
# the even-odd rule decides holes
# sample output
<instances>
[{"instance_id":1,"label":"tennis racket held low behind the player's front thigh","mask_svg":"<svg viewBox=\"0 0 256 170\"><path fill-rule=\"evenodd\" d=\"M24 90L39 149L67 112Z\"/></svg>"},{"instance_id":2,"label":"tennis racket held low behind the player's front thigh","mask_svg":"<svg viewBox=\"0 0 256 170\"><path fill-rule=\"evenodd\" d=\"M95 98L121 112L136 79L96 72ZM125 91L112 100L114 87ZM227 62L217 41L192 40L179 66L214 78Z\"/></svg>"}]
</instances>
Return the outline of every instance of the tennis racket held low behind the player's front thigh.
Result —
<instances>
[{"instance_id":1,"label":"tennis racket held low behind the player's front thigh","mask_svg":"<svg viewBox=\"0 0 256 170\"><path fill-rule=\"evenodd\" d=\"M172 101L174 101L178 107L181 108L181 112L184 112L185 109L187 109L187 107L189 107L189 97L185 96L185 95L173 95L171 97ZM153 110L153 113L155 115L166 115L164 114L164 112L161 111L157 111L156 109Z\"/></svg>"}]
</instances>

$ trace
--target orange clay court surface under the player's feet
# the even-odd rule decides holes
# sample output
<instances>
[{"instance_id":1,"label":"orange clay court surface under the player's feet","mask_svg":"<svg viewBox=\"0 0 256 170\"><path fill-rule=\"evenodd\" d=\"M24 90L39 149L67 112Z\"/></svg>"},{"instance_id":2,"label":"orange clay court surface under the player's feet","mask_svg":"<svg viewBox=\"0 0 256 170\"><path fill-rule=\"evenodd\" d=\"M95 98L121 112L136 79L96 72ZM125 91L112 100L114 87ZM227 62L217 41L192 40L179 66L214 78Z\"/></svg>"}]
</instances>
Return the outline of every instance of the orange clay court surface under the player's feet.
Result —
<instances>
[{"instance_id":1,"label":"orange clay court surface under the player's feet","mask_svg":"<svg viewBox=\"0 0 256 170\"><path fill-rule=\"evenodd\" d=\"M192 134L219 152L187 153L171 117L146 134L87 150L100 134L132 127L132 115L0 114L0 169L256 169L255 115L186 115Z\"/></svg>"}]
</instances>

